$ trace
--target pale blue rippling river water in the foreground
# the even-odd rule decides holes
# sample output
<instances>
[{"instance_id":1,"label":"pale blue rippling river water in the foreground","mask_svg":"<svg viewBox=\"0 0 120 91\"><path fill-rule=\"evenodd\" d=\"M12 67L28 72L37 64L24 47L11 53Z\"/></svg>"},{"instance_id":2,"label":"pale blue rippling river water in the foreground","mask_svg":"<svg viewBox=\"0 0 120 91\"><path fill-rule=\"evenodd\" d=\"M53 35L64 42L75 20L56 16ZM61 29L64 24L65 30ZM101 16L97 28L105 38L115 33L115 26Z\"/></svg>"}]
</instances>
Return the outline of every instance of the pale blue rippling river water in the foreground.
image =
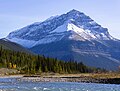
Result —
<instances>
[{"instance_id":1,"label":"pale blue rippling river water in the foreground","mask_svg":"<svg viewBox=\"0 0 120 91\"><path fill-rule=\"evenodd\" d=\"M120 85L77 82L26 82L0 78L0 91L120 91Z\"/></svg>"}]
</instances>

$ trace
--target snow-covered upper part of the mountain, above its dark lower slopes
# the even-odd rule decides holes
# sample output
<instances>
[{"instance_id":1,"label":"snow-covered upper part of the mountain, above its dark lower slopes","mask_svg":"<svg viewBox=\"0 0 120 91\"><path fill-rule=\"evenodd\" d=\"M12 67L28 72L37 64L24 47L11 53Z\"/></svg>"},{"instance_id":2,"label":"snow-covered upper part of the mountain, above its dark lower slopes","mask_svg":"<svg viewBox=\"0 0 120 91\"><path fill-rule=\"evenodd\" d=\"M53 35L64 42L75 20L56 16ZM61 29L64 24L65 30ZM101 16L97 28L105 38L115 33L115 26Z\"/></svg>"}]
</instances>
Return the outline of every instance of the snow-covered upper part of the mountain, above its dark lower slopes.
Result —
<instances>
[{"instance_id":1,"label":"snow-covered upper part of the mountain, above its dark lower slopes","mask_svg":"<svg viewBox=\"0 0 120 91\"><path fill-rule=\"evenodd\" d=\"M59 41L66 36L71 40L81 41L113 39L106 28L76 10L14 31L8 35L7 39L31 48L39 44Z\"/></svg>"}]
</instances>

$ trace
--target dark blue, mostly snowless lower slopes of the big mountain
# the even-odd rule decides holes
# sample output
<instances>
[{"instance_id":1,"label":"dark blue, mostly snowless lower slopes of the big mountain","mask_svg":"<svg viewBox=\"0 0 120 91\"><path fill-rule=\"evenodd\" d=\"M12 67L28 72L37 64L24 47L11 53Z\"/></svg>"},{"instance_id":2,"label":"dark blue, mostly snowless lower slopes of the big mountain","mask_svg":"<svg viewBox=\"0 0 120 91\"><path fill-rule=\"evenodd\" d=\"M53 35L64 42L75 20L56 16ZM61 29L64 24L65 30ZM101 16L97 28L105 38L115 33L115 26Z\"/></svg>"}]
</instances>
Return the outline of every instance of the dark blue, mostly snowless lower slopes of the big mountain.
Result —
<instances>
[{"instance_id":1,"label":"dark blue, mostly snowless lower slopes of the big mountain","mask_svg":"<svg viewBox=\"0 0 120 91\"><path fill-rule=\"evenodd\" d=\"M94 44L95 43L95 44ZM37 54L69 61L82 61L88 66L105 68L108 70L118 69L120 65L120 51L112 50L97 41L73 41L61 40L49 44L41 44L30 50Z\"/></svg>"}]
</instances>

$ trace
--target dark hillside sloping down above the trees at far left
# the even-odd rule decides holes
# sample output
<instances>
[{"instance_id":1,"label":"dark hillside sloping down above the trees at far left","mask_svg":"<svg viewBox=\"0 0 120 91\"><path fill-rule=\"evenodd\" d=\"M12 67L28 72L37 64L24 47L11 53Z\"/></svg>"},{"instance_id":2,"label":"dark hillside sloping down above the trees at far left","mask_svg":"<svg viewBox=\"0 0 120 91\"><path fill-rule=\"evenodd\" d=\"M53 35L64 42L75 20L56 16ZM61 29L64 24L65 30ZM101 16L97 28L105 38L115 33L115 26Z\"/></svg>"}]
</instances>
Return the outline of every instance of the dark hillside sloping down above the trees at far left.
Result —
<instances>
[{"instance_id":1,"label":"dark hillside sloping down above the trees at far left","mask_svg":"<svg viewBox=\"0 0 120 91\"><path fill-rule=\"evenodd\" d=\"M21 45L11 42L7 39L0 39L0 46L2 46L4 49L20 51L20 52L25 52L25 53L32 53L29 50L22 47Z\"/></svg>"}]
</instances>

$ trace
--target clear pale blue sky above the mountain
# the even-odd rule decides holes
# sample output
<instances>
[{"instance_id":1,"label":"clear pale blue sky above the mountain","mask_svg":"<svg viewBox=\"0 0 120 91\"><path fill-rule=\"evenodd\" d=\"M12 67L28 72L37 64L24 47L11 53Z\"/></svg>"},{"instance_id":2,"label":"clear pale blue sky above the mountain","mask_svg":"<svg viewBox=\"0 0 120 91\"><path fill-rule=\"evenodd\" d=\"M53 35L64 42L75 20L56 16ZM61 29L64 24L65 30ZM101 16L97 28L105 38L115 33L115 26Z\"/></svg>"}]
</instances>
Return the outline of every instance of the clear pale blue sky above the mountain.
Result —
<instances>
[{"instance_id":1,"label":"clear pale blue sky above the mountain","mask_svg":"<svg viewBox=\"0 0 120 91\"><path fill-rule=\"evenodd\" d=\"M120 39L120 0L0 0L0 38L72 9L89 15Z\"/></svg>"}]
</instances>

